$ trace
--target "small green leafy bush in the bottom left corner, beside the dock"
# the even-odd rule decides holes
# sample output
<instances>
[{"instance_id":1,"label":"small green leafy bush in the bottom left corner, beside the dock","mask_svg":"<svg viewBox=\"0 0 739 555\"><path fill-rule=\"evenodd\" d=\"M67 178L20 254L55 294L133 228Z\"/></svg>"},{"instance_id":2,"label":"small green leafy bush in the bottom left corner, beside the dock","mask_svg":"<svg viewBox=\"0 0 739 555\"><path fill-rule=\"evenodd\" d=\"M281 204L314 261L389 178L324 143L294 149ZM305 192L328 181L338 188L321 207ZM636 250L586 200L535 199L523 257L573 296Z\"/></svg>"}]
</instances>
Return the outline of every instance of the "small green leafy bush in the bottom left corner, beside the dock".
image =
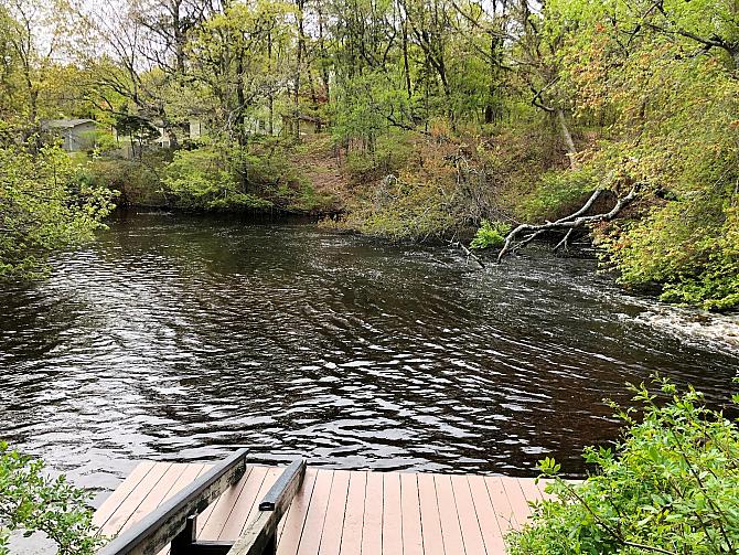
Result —
<instances>
[{"instance_id":1,"label":"small green leafy bush in the bottom left corner, beside the dock","mask_svg":"<svg viewBox=\"0 0 739 555\"><path fill-rule=\"evenodd\" d=\"M8 534L43 532L58 555L92 555L101 541L95 536L89 494L64 477L44 474L40 460L13 451L0 441L0 555L9 555Z\"/></svg>"}]
</instances>

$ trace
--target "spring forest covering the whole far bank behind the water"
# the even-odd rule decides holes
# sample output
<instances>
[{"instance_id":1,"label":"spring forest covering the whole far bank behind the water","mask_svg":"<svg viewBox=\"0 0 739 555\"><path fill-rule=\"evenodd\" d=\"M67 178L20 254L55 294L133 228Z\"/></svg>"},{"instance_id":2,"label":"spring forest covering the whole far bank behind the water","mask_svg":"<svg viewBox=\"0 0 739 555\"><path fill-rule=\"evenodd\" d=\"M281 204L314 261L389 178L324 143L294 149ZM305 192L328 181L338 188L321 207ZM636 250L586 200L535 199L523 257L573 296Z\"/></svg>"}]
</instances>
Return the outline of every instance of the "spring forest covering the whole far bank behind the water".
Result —
<instances>
[{"instance_id":1,"label":"spring forest covering the whole far bank behind the water","mask_svg":"<svg viewBox=\"0 0 739 555\"><path fill-rule=\"evenodd\" d=\"M499 260L586 236L632 290L739 303L733 0L0 10L2 274L43 273L114 204L154 204L392 239L480 227ZM62 118L96 122L82 152L44 125Z\"/></svg>"}]
</instances>

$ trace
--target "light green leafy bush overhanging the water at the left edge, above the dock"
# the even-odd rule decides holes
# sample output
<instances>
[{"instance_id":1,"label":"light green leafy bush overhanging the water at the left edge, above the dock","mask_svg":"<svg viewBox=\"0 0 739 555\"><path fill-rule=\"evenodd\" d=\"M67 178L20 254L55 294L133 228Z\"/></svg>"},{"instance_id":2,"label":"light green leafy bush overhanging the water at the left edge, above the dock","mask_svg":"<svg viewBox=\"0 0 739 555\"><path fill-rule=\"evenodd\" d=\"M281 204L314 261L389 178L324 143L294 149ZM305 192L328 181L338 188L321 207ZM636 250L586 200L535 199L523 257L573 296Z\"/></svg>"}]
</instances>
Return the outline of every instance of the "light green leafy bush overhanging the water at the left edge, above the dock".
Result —
<instances>
[{"instance_id":1,"label":"light green leafy bush overhanging the water at the left edge, above the dock","mask_svg":"<svg viewBox=\"0 0 739 555\"><path fill-rule=\"evenodd\" d=\"M0 277L34 277L60 248L93 239L114 194L57 147L0 148Z\"/></svg>"}]
</instances>

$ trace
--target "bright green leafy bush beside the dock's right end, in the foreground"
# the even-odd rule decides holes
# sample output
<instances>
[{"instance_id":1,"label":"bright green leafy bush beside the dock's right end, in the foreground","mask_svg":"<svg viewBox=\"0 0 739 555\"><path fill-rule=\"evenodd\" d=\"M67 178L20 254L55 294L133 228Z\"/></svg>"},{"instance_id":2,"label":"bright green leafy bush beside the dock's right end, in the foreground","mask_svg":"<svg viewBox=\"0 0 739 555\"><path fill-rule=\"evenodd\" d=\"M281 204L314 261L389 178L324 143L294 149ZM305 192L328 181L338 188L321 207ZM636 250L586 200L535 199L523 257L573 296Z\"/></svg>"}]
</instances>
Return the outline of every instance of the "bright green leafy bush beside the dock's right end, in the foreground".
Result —
<instances>
[{"instance_id":1,"label":"bright green leafy bush beside the dock's right end, in the foreground","mask_svg":"<svg viewBox=\"0 0 739 555\"><path fill-rule=\"evenodd\" d=\"M739 548L739 429L704 404L657 381L668 402L632 386L643 418L612 404L629 426L615 449L588 448L597 472L581 483L540 462L553 499L506 537L511 555L719 554ZM735 395L735 403L739 396Z\"/></svg>"}]
</instances>

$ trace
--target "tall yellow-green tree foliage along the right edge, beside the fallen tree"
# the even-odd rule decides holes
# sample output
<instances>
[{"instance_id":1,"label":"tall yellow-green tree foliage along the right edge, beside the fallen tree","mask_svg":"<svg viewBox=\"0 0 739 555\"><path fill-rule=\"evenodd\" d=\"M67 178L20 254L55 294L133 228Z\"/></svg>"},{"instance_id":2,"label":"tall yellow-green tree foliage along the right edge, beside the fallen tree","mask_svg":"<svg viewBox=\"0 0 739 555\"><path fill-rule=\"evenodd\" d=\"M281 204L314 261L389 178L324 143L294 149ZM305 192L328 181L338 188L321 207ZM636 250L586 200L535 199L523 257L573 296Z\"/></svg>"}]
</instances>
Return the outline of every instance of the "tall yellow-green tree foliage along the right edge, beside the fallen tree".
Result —
<instances>
[{"instance_id":1,"label":"tall yellow-green tree foliage along the right edge, beside the fallen tree","mask_svg":"<svg viewBox=\"0 0 739 555\"><path fill-rule=\"evenodd\" d=\"M549 32L567 36L560 86L577 92L581 121L609 124L581 153L579 171L622 194L640 188L641 210L601 241L624 286L661 291L670 302L730 309L739 303L739 50L700 45L708 36L735 40L733 8L724 1L650 6L547 4ZM629 25L639 32L624 52Z\"/></svg>"}]
</instances>

